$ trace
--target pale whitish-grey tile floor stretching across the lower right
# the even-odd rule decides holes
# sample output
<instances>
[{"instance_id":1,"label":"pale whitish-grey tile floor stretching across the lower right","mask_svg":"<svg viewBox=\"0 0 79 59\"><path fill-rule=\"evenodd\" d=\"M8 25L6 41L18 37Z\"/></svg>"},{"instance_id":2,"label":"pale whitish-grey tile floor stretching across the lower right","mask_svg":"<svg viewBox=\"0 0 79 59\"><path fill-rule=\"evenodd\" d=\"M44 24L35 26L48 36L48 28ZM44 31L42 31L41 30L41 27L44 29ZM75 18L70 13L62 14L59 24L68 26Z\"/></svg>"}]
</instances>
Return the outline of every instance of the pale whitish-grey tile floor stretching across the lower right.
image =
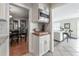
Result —
<instances>
[{"instance_id":1,"label":"pale whitish-grey tile floor stretching across the lower right","mask_svg":"<svg viewBox=\"0 0 79 59\"><path fill-rule=\"evenodd\" d=\"M28 54L27 56L32 56ZM69 39L63 42L56 42L54 52L48 52L44 56L79 56L79 39Z\"/></svg>"}]
</instances>

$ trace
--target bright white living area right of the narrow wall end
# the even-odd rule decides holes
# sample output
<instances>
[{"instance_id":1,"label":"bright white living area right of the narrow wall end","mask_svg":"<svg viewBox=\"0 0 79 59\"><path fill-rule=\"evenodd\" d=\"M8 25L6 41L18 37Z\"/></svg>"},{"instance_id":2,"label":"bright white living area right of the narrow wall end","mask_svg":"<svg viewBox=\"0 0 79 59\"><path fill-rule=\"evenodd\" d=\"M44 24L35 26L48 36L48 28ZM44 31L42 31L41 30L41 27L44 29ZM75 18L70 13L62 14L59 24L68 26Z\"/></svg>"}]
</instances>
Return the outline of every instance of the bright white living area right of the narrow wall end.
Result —
<instances>
[{"instance_id":1,"label":"bright white living area right of the narrow wall end","mask_svg":"<svg viewBox=\"0 0 79 59\"><path fill-rule=\"evenodd\" d=\"M79 56L79 4L59 5L54 8L54 55Z\"/></svg>"}]
</instances>

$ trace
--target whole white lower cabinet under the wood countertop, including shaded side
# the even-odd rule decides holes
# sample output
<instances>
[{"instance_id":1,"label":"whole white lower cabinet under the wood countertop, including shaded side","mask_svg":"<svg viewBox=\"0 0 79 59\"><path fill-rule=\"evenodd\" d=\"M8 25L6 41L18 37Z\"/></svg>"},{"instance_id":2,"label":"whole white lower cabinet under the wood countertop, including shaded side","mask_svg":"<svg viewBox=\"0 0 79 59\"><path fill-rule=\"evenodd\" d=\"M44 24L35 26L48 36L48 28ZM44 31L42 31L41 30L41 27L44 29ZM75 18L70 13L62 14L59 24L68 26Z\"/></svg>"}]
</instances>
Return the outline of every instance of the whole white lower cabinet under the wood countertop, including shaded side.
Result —
<instances>
[{"instance_id":1,"label":"whole white lower cabinet under the wood countertop, including shaded side","mask_svg":"<svg viewBox=\"0 0 79 59\"><path fill-rule=\"evenodd\" d=\"M32 39L32 48L33 48L33 55L44 55L46 52L49 51L49 42L50 42L50 35L44 35L44 36L36 36L33 35Z\"/></svg>"}]
</instances>

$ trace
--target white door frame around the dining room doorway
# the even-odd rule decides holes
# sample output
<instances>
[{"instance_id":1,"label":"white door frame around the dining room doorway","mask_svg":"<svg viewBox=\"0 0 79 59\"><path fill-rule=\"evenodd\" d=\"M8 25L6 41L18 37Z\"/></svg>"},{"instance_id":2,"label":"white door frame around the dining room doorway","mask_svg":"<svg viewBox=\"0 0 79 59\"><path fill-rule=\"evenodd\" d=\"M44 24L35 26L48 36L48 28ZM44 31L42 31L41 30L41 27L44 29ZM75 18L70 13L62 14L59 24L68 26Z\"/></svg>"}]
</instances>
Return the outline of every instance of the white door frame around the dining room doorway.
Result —
<instances>
[{"instance_id":1,"label":"white door frame around the dining room doorway","mask_svg":"<svg viewBox=\"0 0 79 59\"><path fill-rule=\"evenodd\" d=\"M15 5L15 6L18 6L18 7L21 7L21 8L24 8L24 9L27 9L29 11L29 19L28 19L28 36L29 36L29 53L31 53L31 20L32 20L32 8L27 6L27 5L23 5L23 4L20 4L20 3L10 3L9 5ZM9 46L10 48L10 46ZM9 53L8 53L9 54Z\"/></svg>"}]
</instances>

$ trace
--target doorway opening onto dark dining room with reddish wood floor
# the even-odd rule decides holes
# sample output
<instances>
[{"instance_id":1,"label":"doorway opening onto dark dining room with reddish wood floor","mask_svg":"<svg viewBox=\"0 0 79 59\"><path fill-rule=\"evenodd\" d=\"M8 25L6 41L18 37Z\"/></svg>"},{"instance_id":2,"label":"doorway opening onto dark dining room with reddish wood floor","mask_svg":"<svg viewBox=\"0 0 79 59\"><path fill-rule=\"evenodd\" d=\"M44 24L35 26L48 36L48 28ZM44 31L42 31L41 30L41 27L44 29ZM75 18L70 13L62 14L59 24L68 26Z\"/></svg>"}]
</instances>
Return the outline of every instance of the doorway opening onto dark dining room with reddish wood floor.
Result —
<instances>
[{"instance_id":1,"label":"doorway opening onto dark dining room with reddish wood floor","mask_svg":"<svg viewBox=\"0 0 79 59\"><path fill-rule=\"evenodd\" d=\"M9 54L21 56L29 53L29 10L9 5Z\"/></svg>"}]
</instances>

